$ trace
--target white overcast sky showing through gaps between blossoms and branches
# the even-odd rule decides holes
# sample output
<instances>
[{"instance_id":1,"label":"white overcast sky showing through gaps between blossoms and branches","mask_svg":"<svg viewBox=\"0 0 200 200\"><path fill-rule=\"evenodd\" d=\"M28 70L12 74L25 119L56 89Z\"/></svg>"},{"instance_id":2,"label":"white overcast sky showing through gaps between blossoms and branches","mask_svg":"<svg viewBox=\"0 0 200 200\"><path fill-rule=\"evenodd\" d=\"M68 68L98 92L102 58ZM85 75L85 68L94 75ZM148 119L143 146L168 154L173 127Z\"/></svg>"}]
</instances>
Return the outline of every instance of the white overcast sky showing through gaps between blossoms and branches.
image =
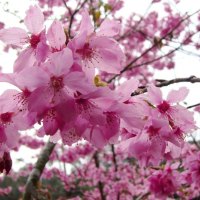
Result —
<instances>
[{"instance_id":1,"label":"white overcast sky showing through gaps between blossoms and branches","mask_svg":"<svg viewBox=\"0 0 200 200\"><path fill-rule=\"evenodd\" d=\"M4 5L6 0L0 0L0 21L6 22L6 27L12 26L20 26L23 27L23 24L19 24L19 19L14 16L13 14L9 14L4 12L3 10L9 8L11 11L17 10L16 13L18 16L23 19L25 16L25 11L28 9L30 3L35 4L34 0L9 0L8 5ZM135 11L143 15L148 8L151 0L125 0L125 7L121 14L127 17L131 12ZM166 2L170 2L171 5L177 9L177 11L181 11L181 13L189 12L192 13L198 10L198 6L200 8L200 0L182 0L181 3L176 5L174 0L166 0ZM197 3L199 2L199 4ZM158 4L154 5L155 8L160 12L161 8ZM151 11L151 9L150 9ZM2 43L0 43L0 66L3 67L4 72L12 72L12 65L16 58L15 51L10 50L8 54L2 52ZM197 52L199 55L200 53ZM200 77L200 57L189 56L183 53L178 53L176 56L176 68L173 70L164 70L160 72L156 72L154 78L157 79L173 79L173 78L181 78L181 77L189 77L191 75L195 75ZM186 85L190 89L190 94L186 99L188 105L193 105L196 103L200 103L200 83L197 84L176 84L171 85L167 88L163 88L162 90L167 92L170 89L178 88L180 86ZM7 85L1 84L0 93L5 89ZM199 117L199 116L197 116ZM200 126L200 120L198 120L198 124ZM197 133L200 134L200 131L197 130ZM33 152L25 150L24 148L21 152L26 152L27 156L25 159L27 162L33 161L32 155ZM22 156L21 153L13 153L16 158L20 158ZM14 165L14 169L17 170L21 165L18 164L17 166Z\"/></svg>"}]
</instances>

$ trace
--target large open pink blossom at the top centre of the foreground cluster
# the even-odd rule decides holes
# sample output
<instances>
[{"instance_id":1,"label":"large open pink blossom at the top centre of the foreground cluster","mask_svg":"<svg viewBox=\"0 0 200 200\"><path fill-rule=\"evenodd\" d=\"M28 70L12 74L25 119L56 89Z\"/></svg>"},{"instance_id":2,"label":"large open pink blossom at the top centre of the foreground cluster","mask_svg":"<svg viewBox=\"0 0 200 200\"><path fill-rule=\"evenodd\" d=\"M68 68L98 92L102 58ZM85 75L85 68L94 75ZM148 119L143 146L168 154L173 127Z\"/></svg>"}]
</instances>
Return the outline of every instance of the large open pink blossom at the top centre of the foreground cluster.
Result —
<instances>
[{"instance_id":1,"label":"large open pink blossom at the top centre of the foreground cluster","mask_svg":"<svg viewBox=\"0 0 200 200\"><path fill-rule=\"evenodd\" d=\"M111 38L118 32L119 24L110 20L105 20L99 31L94 32L88 12L83 12L79 34L69 42L68 47L84 72L92 73L93 76L95 68L113 74L120 72L123 52L119 44Z\"/></svg>"}]
</instances>

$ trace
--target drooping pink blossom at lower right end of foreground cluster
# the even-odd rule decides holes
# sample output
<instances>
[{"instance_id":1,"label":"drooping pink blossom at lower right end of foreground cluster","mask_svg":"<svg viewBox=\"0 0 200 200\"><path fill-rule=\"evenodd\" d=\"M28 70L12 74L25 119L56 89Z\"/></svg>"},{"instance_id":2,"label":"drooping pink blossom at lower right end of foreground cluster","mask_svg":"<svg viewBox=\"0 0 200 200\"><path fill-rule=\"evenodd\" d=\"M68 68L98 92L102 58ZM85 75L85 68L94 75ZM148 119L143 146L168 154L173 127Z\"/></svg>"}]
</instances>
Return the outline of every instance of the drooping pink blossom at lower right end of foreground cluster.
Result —
<instances>
[{"instance_id":1,"label":"drooping pink blossom at lower right end of foreground cluster","mask_svg":"<svg viewBox=\"0 0 200 200\"><path fill-rule=\"evenodd\" d=\"M133 134L119 147L130 156L137 158L143 166L157 165L164 157L167 147L166 137L169 132L165 120L152 119L148 121L141 133Z\"/></svg>"}]
</instances>

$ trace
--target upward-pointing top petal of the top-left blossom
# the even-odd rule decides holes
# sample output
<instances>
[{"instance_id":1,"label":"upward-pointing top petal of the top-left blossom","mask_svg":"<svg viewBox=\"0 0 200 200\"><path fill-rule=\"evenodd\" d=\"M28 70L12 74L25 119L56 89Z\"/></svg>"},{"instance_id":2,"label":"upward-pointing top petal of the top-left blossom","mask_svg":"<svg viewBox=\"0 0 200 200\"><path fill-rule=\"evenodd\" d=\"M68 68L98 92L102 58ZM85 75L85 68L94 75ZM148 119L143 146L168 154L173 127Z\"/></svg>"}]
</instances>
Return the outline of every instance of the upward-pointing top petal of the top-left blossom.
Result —
<instances>
[{"instance_id":1,"label":"upward-pointing top petal of the top-left blossom","mask_svg":"<svg viewBox=\"0 0 200 200\"><path fill-rule=\"evenodd\" d=\"M24 23L32 34L39 34L43 29L44 15L37 6L30 6L26 12Z\"/></svg>"}]
</instances>

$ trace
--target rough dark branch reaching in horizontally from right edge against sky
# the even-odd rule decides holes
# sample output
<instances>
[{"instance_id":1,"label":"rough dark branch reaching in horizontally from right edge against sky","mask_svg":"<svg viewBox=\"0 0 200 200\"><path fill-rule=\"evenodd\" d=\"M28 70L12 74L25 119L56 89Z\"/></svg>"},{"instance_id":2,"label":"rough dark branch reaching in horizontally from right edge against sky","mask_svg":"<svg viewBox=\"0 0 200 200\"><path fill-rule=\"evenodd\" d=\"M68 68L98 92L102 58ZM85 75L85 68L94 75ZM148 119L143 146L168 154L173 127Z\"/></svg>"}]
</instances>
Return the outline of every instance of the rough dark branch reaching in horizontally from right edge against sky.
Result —
<instances>
[{"instance_id":1,"label":"rough dark branch reaching in horizontally from right edge against sky","mask_svg":"<svg viewBox=\"0 0 200 200\"><path fill-rule=\"evenodd\" d=\"M169 81L162 81L161 83L156 84L156 87L164 87L174 83L181 83L181 82L188 82L188 83L200 83L200 78L195 76L190 76L189 78L176 78ZM142 89L138 89L131 94L131 96L140 95L147 92L147 87Z\"/></svg>"}]
</instances>

